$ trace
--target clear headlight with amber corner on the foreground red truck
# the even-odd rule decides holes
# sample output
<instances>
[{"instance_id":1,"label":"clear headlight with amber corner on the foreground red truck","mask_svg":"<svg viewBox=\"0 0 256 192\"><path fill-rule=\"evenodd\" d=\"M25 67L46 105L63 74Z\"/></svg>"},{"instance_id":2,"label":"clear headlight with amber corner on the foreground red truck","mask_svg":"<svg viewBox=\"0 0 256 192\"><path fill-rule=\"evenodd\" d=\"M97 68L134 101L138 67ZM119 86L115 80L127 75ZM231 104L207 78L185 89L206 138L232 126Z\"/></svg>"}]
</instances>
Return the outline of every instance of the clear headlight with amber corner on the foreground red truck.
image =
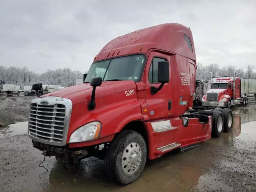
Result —
<instances>
[{"instance_id":1,"label":"clear headlight with amber corner on the foreground red truck","mask_svg":"<svg viewBox=\"0 0 256 192\"><path fill-rule=\"evenodd\" d=\"M70 143L90 141L99 138L101 130L101 123L94 121L83 125L75 130L69 139Z\"/></svg>"}]
</instances>

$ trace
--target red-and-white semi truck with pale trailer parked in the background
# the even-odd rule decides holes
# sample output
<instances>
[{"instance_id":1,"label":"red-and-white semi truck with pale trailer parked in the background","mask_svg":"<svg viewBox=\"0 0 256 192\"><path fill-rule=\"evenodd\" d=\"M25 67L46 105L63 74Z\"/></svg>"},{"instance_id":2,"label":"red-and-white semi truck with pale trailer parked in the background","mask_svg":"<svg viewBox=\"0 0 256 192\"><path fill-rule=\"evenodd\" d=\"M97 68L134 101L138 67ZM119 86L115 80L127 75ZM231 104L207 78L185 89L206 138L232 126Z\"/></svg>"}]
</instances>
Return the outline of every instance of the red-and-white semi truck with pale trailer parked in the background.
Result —
<instances>
[{"instance_id":1,"label":"red-and-white semi truck with pale trailer parked in the background","mask_svg":"<svg viewBox=\"0 0 256 192\"><path fill-rule=\"evenodd\" d=\"M240 79L238 77L212 78L211 89L202 98L206 107L230 108L242 104L248 105L247 94L256 95L256 80Z\"/></svg>"}]
</instances>

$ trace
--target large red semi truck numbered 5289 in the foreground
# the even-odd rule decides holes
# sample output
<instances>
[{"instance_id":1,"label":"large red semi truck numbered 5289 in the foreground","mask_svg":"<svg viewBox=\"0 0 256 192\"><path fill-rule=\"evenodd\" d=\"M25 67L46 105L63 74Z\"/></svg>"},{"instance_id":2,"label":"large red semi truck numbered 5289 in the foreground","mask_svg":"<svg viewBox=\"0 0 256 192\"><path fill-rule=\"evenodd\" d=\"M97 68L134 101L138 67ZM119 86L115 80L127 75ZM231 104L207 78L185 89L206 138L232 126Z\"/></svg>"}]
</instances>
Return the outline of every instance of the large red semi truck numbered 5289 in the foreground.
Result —
<instances>
[{"instance_id":1,"label":"large red semi truck numbered 5289 in the foreground","mask_svg":"<svg viewBox=\"0 0 256 192\"><path fill-rule=\"evenodd\" d=\"M66 166L91 156L104 159L108 176L129 184L146 159L232 128L229 109L192 108L195 73L192 33L181 24L120 36L94 58L83 84L32 100L29 137Z\"/></svg>"}]
</instances>

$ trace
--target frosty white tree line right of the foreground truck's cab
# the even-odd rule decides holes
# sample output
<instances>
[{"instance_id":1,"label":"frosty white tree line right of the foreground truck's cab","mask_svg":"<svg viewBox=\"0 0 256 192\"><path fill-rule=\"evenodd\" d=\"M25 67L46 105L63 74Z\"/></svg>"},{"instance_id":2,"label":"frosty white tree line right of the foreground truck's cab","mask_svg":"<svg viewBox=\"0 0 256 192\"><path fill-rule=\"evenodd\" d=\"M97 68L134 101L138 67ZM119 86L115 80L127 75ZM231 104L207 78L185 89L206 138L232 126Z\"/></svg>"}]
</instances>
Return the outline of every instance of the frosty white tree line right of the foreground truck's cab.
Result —
<instances>
[{"instance_id":1,"label":"frosty white tree line right of the foreground truck's cab","mask_svg":"<svg viewBox=\"0 0 256 192\"><path fill-rule=\"evenodd\" d=\"M211 74L212 77L233 77L235 74L236 77L240 78L256 79L256 72L254 72L254 66L251 65L248 65L246 71L244 71L242 68L236 68L232 65L223 66L222 68L220 68L217 63L206 66L202 65L201 63L197 63L196 79L210 80Z\"/></svg>"}]
</instances>

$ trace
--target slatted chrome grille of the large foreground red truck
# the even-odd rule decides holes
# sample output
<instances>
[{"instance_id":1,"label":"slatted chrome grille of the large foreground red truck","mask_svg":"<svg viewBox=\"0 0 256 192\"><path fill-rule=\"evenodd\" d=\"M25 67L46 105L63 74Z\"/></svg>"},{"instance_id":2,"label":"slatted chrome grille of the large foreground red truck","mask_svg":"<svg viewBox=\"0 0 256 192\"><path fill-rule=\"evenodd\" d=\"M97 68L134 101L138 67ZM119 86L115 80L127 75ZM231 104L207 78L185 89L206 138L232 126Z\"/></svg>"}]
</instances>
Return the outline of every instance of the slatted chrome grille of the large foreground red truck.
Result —
<instances>
[{"instance_id":1,"label":"slatted chrome grille of the large foreground red truck","mask_svg":"<svg viewBox=\"0 0 256 192\"><path fill-rule=\"evenodd\" d=\"M29 133L42 140L62 142L65 105L30 105Z\"/></svg>"}]
</instances>

